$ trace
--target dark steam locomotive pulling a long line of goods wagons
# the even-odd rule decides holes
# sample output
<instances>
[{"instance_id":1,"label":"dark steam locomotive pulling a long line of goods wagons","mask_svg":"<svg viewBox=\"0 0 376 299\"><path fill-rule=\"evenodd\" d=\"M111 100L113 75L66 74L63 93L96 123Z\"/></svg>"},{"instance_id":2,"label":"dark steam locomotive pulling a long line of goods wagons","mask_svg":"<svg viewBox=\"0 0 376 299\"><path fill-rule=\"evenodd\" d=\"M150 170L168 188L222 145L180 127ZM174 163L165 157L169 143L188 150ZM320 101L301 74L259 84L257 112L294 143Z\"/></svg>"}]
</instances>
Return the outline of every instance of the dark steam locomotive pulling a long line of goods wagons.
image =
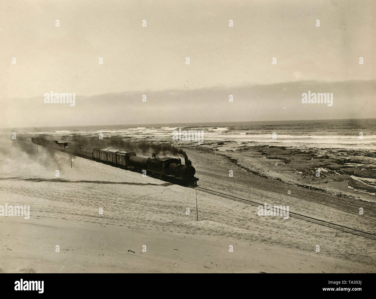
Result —
<instances>
[{"instance_id":1,"label":"dark steam locomotive pulling a long line of goods wagons","mask_svg":"<svg viewBox=\"0 0 376 299\"><path fill-rule=\"evenodd\" d=\"M162 180L179 183L182 185L197 186L199 180L194 175L196 169L191 160L185 156L185 165L180 158L142 158L132 151L118 150L114 148L86 148L70 142L50 140L44 137L32 137L33 143L52 148L68 154L74 154L86 159L106 163L112 166L143 172L143 174L157 177ZM146 173L145 173L146 171Z\"/></svg>"}]
</instances>

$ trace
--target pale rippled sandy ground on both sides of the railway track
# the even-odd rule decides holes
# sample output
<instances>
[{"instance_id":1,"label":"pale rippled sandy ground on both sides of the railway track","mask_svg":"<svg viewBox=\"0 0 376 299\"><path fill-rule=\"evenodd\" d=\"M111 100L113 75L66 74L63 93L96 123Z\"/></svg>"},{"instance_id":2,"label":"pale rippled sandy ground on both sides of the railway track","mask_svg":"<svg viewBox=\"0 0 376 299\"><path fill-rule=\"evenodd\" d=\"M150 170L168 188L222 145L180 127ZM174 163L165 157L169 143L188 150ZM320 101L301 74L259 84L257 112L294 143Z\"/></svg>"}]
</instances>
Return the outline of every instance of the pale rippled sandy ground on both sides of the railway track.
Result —
<instances>
[{"instance_id":1,"label":"pale rippled sandy ground on both sides of the railway track","mask_svg":"<svg viewBox=\"0 0 376 299\"><path fill-rule=\"evenodd\" d=\"M259 148L185 150L200 186L375 233L368 194L307 188L286 171L278 178L282 172ZM196 221L194 189L73 160L71 168L68 154L1 144L0 205L30 205L30 219L0 217L2 272L375 272L373 240L293 217L258 216L256 207L199 190Z\"/></svg>"}]
</instances>

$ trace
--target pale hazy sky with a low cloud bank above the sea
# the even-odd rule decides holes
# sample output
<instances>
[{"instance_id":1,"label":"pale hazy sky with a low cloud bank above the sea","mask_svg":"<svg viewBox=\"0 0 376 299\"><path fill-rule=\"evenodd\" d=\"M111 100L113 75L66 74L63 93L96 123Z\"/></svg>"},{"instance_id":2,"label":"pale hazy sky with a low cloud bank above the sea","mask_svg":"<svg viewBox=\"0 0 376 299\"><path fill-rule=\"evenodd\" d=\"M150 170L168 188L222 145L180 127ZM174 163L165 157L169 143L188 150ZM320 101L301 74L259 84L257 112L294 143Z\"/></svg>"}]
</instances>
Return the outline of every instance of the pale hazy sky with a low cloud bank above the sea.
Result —
<instances>
[{"instance_id":1,"label":"pale hazy sky with a low cloud bank above the sea","mask_svg":"<svg viewBox=\"0 0 376 299\"><path fill-rule=\"evenodd\" d=\"M143 20L146 27L142 26ZM320 20L320 27L316 20ZM273 86L274 96L264 100L274 98L278 106L280 91L274 89L276 84L289 83L297 88L297 96L287 99L297 103L301 100L299 94L307 92L305 82L314 82L312 87L317 92L337 91L338 85L331 88L328 82L343 82L343 86L352 82L356 90L357 86L367 86L361 95L355 94L362 99L364 113L354 117L364 118L375 99L375 25L376 3L362 0L1 0L0 126L53 126L53 119L58 123L69 119L67 125L143 123L145 118L148 123L167 123L169 115L192 103L198 105L192 107L194 111L211 108L211 113L207 117L205 113L192 116L191 121L185 116L185 122L247 121L252 120L247 115L253 112L253 119L267 120L275 116L275 111L257 114L254 97L259 95L249 94L247 106L244 88L255 91ZM16 64L12 63L13 57ZM103 64L99 64L99 57ZM189 65L186 57L190 58ZM273 57L276 64L272 63ZM359 64L359 57L363 57L364 64ZM363 80L370 83L354 83ZM320 89L320 82L326 90ZM241 91L245 101L242 109L247 112L241 119L236 114L216 115L215 108L226 106L217 106L212 100L209 102L213 106L208 107L206 98L200 98L207 96L207 91L214 95L220 90L224 95L216 99L218 105L224 105L223 98L228 102L226 92ZM74 92L76 106L67 110L60 109L61 104L44 104L44 94L50 91ZM178 92L180 100L171 98L171 105L164 104L163 111L162 100L149 100L144 107L130 103L141 101L143 94L156 92L161 92L161 99L165 92L168 99L171 91ZM134 97L118 98L115 106L106 105L114 94ZM87 113L90 101L98 96L103 103ZM337 97L337 103L341 99ZM241 111L238 103L231 103L233 110ZM144 115L133 115L132 119L121 116L119 110L127 105L136 107L134 113ZM96 109L102 110L102 116ZM258 109L267 107L261 102ZM354 115L346 108L335 111L333 118ZM294 119L299 108L290 112L277 118ZM315 109L307 113L308 119L320 119ZM85 117L69 116L80 114ZM180 112L178 115L183 118Z\"/></svg>"}]
</instances>

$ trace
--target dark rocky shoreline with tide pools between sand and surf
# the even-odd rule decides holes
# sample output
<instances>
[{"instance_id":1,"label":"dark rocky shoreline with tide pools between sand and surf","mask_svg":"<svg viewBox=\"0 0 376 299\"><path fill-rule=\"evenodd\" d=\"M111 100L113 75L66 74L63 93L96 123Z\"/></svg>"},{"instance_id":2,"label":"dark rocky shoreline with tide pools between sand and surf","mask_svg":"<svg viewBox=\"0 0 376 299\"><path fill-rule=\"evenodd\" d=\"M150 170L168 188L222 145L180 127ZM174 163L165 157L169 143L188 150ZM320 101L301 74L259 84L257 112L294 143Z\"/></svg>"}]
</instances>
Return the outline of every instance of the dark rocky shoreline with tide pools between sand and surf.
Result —
<instances>
[{"instance_id":1,"label":"dark rocky shoreline with tide pools between sand and surf","mask_svg":"<svg viewBox=\"0 0 376 299\"><path fill-rule=\"evenodd\" d=\"M308 189L376 201L376 152L343 148L237 145L232 141L189 145L227 157L249 172Z\"/></svg>"}]
</instances>

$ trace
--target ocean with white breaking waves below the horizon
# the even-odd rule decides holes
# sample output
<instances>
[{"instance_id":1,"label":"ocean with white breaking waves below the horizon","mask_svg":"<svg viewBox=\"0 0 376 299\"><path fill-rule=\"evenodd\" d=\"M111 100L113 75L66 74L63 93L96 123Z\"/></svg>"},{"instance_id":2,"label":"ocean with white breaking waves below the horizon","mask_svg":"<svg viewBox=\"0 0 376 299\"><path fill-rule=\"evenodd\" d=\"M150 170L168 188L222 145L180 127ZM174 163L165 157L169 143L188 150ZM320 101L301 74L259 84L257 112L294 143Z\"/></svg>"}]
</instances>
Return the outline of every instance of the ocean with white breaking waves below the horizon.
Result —
<instances>
[{"instance_id":1,"label":"ocean with white breaking waves below the horizon","mask_svg":"<svg viewBox=\"0 0 376 299\"><path fill-rule=\"evenodd\" d=\"M78 134L95 136L103 133L127 140L145 139L171 141L174 130L203 131L208 141L279 146L310 146L320 148L352 148L375 150L376 119L332 119L309 121L202 122L175 124L89 125L3 129L2 134L47 134L62 136ZM243 143L243 144L244 144Z\"/></svg>"}]
</instances>

